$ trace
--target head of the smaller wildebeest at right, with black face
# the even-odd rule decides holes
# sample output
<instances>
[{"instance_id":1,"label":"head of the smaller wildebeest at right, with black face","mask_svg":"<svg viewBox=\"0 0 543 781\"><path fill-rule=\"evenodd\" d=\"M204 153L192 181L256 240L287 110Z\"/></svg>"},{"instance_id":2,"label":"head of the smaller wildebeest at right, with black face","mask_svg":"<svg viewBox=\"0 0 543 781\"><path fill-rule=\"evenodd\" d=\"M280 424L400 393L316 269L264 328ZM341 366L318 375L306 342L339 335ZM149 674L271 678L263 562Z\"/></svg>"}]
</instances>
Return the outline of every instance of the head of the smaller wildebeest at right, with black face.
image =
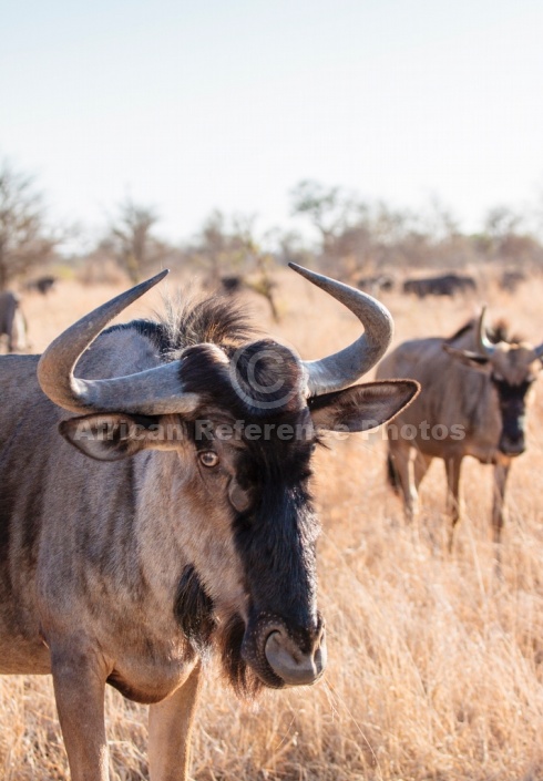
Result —
<instances>
[{"instance_id":1,"label":"head of the smaller wildebeest at right, with black face","mask_svg":"<svg viewBox=\"0 0 543 781\"><path fill-rule=\"evenodd\" d=\"M526 402L541 371L543 345L533 347L525 341L508 340L504 335L500 335L494 343L486 336L484 316L483 308L477 325L475 351L460 350L449 343L443 347L453 358L488 374L495 390L501 419L498 449L511 458L525 450Z\"/></svg>"}]
</instances>

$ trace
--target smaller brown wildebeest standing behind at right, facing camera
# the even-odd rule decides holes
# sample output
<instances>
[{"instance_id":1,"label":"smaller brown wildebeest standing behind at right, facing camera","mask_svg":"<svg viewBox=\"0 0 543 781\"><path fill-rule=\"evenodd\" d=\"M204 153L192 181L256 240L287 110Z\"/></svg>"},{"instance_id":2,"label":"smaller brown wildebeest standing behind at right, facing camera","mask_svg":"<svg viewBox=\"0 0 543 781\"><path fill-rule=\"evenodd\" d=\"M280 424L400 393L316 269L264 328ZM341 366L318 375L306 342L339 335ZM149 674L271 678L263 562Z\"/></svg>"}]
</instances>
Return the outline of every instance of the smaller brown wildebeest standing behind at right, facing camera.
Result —
<instances>
[{"instance_id":1,"label":"smaller brown wildebeest standing behind at right, facing camera","mask_svg":"<svg viewBox=\"0 0 543 781\"><path fill-rule=\"evenodd\" d=\"M512 460L525 449L526 404L542 351L543 346L509 339L503 328L486 335L483 310L479 321L452 338L407 341L378 367L378 378L412 377L421 384L417 401L388 430L389 479L401 491L411 517L432 459L444 461L450 544L460 517L465 455L494 466L492 528L500 542L505 484Z\"/></svg>"}]
</instances>

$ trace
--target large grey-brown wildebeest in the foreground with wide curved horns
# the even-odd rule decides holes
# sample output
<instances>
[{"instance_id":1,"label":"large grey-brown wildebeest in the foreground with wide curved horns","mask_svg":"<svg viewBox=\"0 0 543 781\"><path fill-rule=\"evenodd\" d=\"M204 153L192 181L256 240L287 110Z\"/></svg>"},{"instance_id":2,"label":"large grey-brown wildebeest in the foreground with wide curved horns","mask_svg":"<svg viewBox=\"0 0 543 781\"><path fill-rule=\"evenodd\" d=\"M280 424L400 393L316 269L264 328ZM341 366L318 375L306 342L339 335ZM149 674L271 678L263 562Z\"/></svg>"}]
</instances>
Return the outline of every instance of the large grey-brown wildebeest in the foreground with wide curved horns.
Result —
<instances>
[{"instance_id":1,"label":"large grey-brown wildebeest in the foreground with wide curved horns","mask_svg":"<svg viewBox=\"0 0 543 781\"><path fill-rule=\"evenodd\" d=\"M101 333L162 274L41 359L0 359L0 671L52 672L73 781L109 777L106 682L150 703L151 779L171 781L186 778L209 654L242 693L322 674L318 431L382 422L417 386L351 387L390 315L296 270L357 315L354 345L301 361L217 300Z\"/></svg>"}]
</instances>

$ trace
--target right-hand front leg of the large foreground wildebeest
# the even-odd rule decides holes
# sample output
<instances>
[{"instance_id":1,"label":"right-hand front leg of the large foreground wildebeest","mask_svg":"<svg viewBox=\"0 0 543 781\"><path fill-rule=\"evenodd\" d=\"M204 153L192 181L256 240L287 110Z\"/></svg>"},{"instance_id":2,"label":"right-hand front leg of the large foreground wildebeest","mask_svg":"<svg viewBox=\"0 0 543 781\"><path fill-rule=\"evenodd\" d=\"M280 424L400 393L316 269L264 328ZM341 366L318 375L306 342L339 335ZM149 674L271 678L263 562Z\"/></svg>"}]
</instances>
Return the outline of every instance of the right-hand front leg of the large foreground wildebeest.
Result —
<instances>
[{"instance_id":1,"label":"right-hand front leg of the large foreground wildebeest","mask_svg":"<svg viewBox=\"0 0 543 781\"><path fill-rule=\"evenodd\" d=\"M148 709L151 781L185 781L191 729L199 691L201 665L173 695Z\"/></svg>"}]
</instances>

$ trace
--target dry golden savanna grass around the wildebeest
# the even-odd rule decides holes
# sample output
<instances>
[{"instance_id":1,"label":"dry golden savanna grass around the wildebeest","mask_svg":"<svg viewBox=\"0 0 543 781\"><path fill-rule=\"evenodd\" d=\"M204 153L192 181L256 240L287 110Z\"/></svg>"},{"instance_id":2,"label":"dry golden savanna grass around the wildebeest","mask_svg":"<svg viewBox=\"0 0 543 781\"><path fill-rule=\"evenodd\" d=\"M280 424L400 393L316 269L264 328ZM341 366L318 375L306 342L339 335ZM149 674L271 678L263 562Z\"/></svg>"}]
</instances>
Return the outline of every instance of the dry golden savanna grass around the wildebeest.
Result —
<instances>
[{"instance_id":1,"label":"dry golden savanna grass around the wildebeest","mask_svg":"<svg viewBox=\"0 0 543 781\"><path fill-rule=\"evenodd\" d=\"M170 282L173 289L175 286ZM41 350L61 328L116 289L59 286L29 296L31 339ZM492 316L543 340L535 279L515 297L492 285ZM291 273L280 275L280 326L247 299L267 330L305 358L358 333L349 312ZM383 298L396 339L447 335L479 298ZM155 295L151 306L158 301ZM132 314L148 314L141 302ZM541 380L543 382L543 380ZM213 666L198 710L192 777L198 781L536 781L543 778L543 388L529 451L514 464L502 573L490 542L491 469L464 464L464 518L445 552L442 464L423 485L423 512L407 527L385 483L382 435L330 441L317 454L322 518L320 607L329 665L313 688L237 701ZM115 781L146 779L146 709L110 690L106 715ZM0 682L0 777L68 779L48 678Z\"/></svg>"}]
</instances>

